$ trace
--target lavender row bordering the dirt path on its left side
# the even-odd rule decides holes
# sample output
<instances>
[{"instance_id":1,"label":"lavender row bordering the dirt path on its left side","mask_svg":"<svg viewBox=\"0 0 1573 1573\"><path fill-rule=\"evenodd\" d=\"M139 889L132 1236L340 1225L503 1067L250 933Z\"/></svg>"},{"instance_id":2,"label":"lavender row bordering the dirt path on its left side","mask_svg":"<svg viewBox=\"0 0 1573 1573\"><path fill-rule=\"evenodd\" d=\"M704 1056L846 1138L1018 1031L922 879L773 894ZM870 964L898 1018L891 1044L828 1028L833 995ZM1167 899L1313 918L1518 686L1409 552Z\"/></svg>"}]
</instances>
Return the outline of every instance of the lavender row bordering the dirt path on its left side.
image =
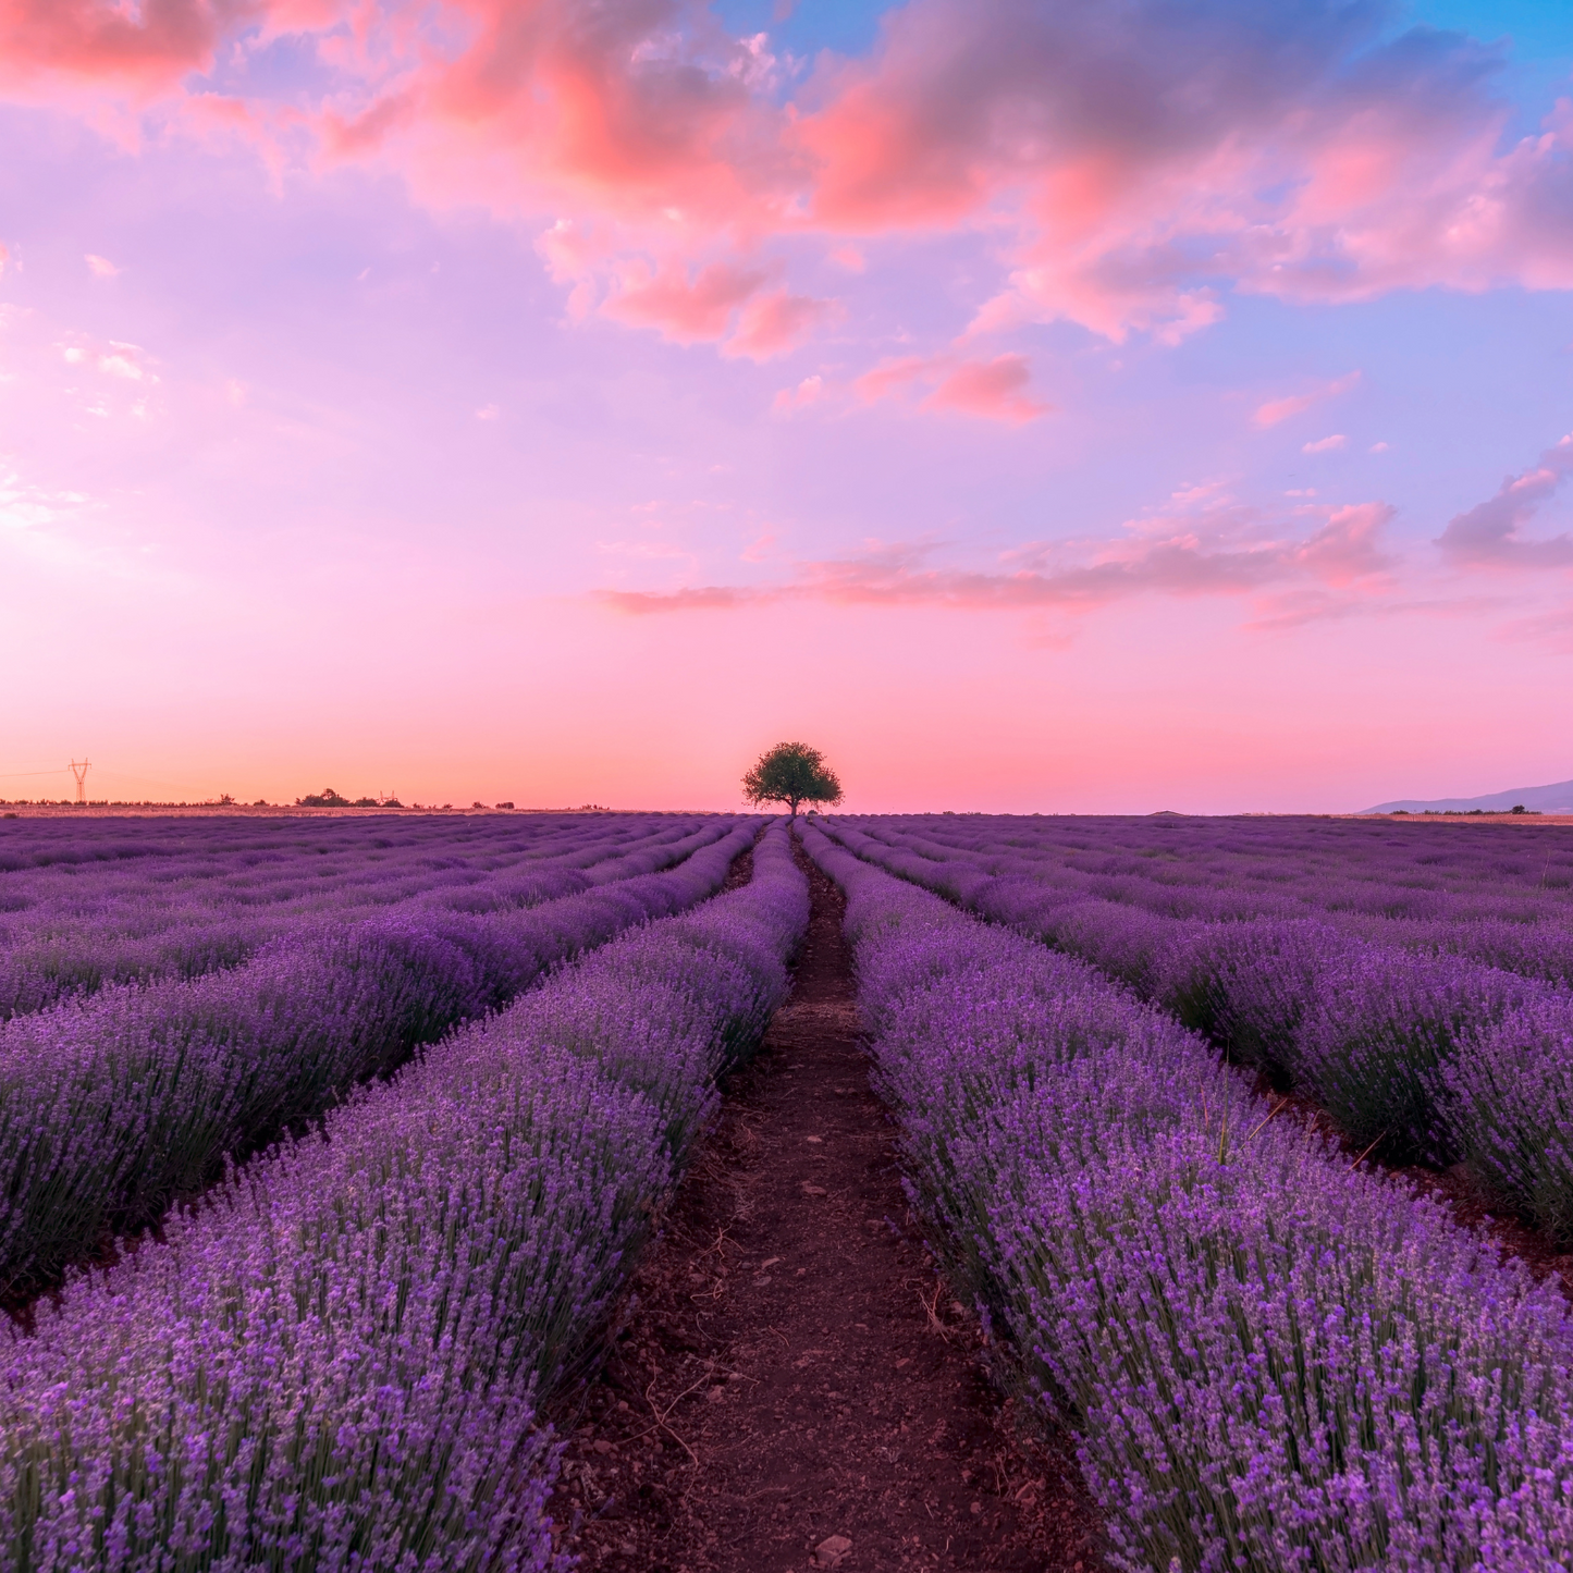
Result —
<instances>
[{"instance_id":1,"label":"lavender row bordering the dirt path on its left side","mask_svg":"<svg viewBox=\"0 0 1573 1573\"><path fill-rule=\"evenodd\" d=\"M536 1411L786 989L750 884L445 1038L0 1354L0 1543L44 1570L562 1567Z\"/></svg>"}]
</instances>

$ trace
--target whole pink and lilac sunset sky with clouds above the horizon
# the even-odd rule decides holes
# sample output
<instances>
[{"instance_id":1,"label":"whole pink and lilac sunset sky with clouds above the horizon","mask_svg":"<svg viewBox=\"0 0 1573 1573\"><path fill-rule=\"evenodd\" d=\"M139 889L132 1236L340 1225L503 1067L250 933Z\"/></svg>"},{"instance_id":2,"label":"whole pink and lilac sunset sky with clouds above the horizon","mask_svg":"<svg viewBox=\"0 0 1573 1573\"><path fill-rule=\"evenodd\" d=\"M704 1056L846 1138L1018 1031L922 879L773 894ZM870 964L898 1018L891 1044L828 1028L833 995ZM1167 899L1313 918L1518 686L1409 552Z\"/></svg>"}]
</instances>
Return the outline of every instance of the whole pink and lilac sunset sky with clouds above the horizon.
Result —
<instances>
[{"instance_id":1,"label":"whole pink and lilac sunset sky with clouds above the horizon","mask_svg":"<svg viewBox=\"0 0 1573 1573\"><path fill-rule=\"evenodd\" d=\"M0 798L1573 775L1564 0L0 0Z\"/></svg>"}]
</instances>

